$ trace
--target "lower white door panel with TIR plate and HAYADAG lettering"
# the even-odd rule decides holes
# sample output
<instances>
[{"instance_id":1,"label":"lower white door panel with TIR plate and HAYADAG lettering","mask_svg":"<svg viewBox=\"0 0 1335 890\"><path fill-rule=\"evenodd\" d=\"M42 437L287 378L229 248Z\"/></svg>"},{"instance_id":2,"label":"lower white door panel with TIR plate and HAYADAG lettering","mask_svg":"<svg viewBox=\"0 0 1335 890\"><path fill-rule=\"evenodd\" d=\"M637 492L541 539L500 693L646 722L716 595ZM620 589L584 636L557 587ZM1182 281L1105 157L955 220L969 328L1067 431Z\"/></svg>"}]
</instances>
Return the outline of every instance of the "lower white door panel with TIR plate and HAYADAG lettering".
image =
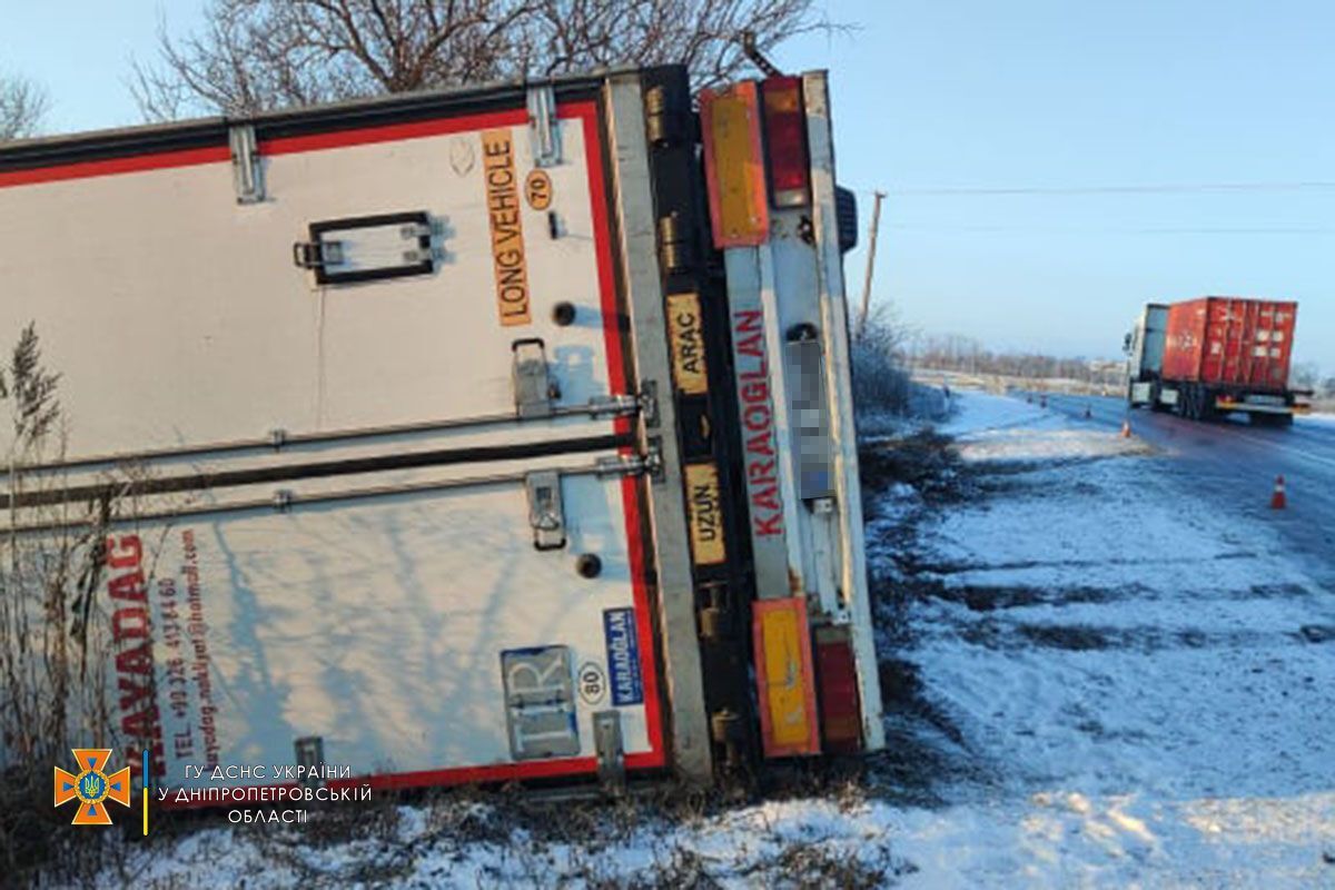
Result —
<instances>
[{"instance_id":1,"label":"lower white door panel with TIR plate and HAYADAG lettering","mask_svg":"<svg viewBox=\"0 0 1335 890\"><path fill-rule=\"evenodd\" d=\"M625 534L633 486L566 478L578 520L563 551L533 547L518 484L119 530L108 591L123 730L146 726L155 701L170 787L218 785L191 781L187 765L291 763L304 737L355 777L459 782L526 761L589 771L593 714L610 710L633 762L657 759L642 556ZM575 571L575 554L598 555L597 578ZM125 612L140 574L152 699L125 695L147 679L127 656L143 643ZM535 741L507 705L503 654L558 647L566 667L545 681L558 698L573 693L569 731L565 718L545 719Z\"/></svg>"}]
</instances>

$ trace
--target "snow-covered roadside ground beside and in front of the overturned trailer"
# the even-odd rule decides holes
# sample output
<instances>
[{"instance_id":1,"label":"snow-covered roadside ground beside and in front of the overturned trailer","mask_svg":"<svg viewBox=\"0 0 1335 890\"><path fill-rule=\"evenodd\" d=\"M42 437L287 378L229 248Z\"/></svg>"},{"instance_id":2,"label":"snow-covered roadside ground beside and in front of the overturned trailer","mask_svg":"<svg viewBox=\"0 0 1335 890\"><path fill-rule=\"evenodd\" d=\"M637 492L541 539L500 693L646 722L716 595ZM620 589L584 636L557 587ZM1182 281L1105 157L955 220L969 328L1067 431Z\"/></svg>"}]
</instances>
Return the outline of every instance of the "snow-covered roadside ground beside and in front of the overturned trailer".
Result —
<instances>
[{"instance_id":1,"label":"snow-covered roadside ground beside and in front of the overturned trailer","mask_svg":"<svg viewBox=\"0 0 1335 890\"><path fill-rule=\"evenodd\" d=\"M127 874L1335 887L1332 591L1263 518L1204 508L1137 439L1023 400L956 399L963 494L900 482L868 503L882 656L902 683L886 690L897 749L860 790L689 818L609 807L557 838L485 803L402 806L359 841L195 833L132 854ZM894 789L914 763L921 805Z\"/></svg>"}]
</instances>

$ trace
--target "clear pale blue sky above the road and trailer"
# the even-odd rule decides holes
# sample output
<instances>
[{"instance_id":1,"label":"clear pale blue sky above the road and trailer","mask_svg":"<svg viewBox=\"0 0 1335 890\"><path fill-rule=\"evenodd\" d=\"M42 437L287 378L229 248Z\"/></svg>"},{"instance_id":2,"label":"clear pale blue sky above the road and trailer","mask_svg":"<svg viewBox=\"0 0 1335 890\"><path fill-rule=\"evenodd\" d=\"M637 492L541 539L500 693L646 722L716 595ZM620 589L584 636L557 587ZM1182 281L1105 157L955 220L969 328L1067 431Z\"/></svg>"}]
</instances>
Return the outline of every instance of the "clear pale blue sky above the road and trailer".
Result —
<instances>
[{"instance_id":1,"label":"clear pale blue sky above the road and trailer","mask_svg":"<svg viewBox=\"0 0 1335 890\"><path fill-rule=\"evenodd\" d=\"M131 55L152 57L163 12L179 32L199 7L0 0L0 69L47 85L52 131L134 123ZM1299 360L1335 372L1335 3L824 8L857 29L794 40L776 60L832 72L840 177L864 226L870 191L889 192L876 300L905 322L1115 355L1147 300L1291 298ZM1324 185L1079 191L1292 183ZM973 191L1012 188L1033 191ZM924 193L940 189L967 193ZM854 298L864 262L849 258Z\"/></svg>"}]
</instances>

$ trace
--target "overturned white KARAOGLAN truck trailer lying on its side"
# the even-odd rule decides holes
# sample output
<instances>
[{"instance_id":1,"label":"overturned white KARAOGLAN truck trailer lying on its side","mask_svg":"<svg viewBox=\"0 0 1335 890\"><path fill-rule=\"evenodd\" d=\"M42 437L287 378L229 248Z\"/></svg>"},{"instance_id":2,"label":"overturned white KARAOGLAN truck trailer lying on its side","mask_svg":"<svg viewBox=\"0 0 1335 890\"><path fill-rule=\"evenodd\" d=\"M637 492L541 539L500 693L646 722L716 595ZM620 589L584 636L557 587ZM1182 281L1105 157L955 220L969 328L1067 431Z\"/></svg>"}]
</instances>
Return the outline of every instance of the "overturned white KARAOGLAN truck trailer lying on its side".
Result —
<instances>
[{"instance_id":1,"label":"overturned white KARAOGLAN truck trailer lying on its side","mask_svg":"<svg viewBox=\"0 0 1335 890\"><path fill-rule=\"evenodd\" d=\"M7 512L96 532L87 742L178 790L878 749L849 197L822 73L0 148L0 331L68 418Z\"/></svg>"}]
</instances>

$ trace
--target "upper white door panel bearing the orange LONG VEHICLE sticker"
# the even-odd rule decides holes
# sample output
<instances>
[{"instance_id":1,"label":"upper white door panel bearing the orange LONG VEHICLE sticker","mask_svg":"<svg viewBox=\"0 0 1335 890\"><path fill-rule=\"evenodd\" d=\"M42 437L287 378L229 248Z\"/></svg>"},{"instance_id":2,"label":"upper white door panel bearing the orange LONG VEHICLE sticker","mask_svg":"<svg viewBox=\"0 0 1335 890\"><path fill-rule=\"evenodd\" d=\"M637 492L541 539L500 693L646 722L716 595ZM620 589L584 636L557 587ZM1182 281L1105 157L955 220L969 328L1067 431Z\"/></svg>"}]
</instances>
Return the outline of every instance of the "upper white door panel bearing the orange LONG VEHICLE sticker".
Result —
<instances>
[{"instance_id":1,"label":"upper white door panel bearing the orange LONG VEHICLE sticker","mask_svg":"<svg viewBox=\"0 0 1335 890\"><path fill-rule=\"evenodd\" d=\"M513 411L522 338L545 342L561 403L606 395L621 362L607 354L610 246L587 164L595 112L563 111L577 112L561 121L562 163L541 172L546 209L523 197L535 168L522 111L262 143L267 199L248 205L226 149L0 176L0 331L36 323L63 375L69 458ZM513 149L525 324L501 323L486 133ZM438 228L430 275L316 287L294 266L311 223L417 211ZM553 322L559 302L573 324Z\"/></svg>"}]
</instances>

